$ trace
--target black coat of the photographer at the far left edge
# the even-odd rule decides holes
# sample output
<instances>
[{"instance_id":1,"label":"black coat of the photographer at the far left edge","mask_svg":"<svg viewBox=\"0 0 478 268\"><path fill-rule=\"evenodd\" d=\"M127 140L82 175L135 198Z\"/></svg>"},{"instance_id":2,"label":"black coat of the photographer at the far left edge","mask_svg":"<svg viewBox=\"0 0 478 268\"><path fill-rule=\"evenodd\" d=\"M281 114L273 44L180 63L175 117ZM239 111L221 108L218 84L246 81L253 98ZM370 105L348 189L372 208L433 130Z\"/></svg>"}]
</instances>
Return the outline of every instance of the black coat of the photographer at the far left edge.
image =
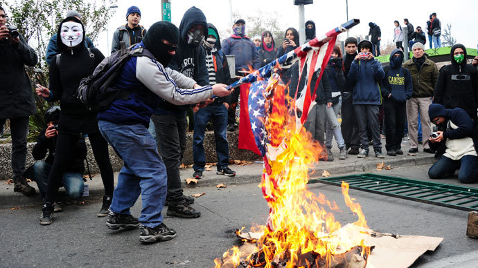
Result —
<instances>
[{"instance_id":1,"label":"black coat of the photographer at the far left edge","mask_svg":"<svg viewBox=\"0 0 478 268\"><path fill-rule=\"evenodd\" d=\"M32 84L25 65L35 66L37 54L19 35L18 46L0 41L0 119L26 117L37 113Z\"/></svg>"}]
</instances>

